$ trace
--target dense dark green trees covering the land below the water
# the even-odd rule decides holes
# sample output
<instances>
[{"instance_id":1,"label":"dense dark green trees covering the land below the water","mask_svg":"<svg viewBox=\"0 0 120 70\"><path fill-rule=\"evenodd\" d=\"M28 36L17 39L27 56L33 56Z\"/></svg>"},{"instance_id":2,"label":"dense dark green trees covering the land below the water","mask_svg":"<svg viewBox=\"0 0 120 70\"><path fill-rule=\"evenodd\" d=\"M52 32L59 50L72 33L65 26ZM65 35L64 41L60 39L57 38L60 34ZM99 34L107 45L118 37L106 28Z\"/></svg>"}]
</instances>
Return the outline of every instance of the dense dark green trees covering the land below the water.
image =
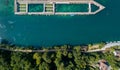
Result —
<instances>
[{"instance_id":1,"label":"dense dark green trees covering the land below the water","mask_svg":"<svg viewBox=\"0 0 120 70\"><path fill-rule=\"evenodd\" d=\"M1 44L1 48L31 49L17 47L15 45ZM36 48L32 48L36 49ZM49 52L50 49L57 50ZM61 50L62 49L62 50ZM82 52L80 46L55 46L41 48L44 52L12 52L0 50L1 70L99 70L96 67L100 59L109 62L113 70L120 68L120 60L112 52Z\"/></svg>"}]
</instances>

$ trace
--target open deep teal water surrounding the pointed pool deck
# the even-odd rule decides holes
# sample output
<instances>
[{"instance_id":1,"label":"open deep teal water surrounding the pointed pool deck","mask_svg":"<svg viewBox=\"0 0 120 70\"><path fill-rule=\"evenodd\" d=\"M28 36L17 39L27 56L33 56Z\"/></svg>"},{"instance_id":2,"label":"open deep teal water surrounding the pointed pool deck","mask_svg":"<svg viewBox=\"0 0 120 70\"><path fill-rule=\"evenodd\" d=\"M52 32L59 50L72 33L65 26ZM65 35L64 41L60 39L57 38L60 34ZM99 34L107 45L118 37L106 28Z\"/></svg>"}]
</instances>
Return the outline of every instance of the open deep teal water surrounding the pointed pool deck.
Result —
<instances>
[{"instance_id":1,"label":"open deep teal water surrounding the pointed pool deck","mask_svg":"<svg viewBox=\"0 0 120 70\"><path fill-rule=\"evenodd\" d=\"M98 2L106 8L96 15L17 16L11 0L0 0L0 37L14 44L34 46L120 40L120 0Z\"/></svg>"}]
</instances>

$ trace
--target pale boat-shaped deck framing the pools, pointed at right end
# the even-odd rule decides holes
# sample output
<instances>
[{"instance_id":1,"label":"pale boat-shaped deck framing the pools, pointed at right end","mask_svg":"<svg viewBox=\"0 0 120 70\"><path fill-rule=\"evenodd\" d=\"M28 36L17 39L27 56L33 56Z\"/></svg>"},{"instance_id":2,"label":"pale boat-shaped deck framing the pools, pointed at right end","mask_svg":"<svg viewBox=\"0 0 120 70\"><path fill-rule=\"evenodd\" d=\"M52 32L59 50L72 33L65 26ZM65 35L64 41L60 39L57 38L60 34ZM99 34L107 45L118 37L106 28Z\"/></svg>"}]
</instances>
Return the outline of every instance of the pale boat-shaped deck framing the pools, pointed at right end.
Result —
<instances>
[{"instance_id":1,"label":"pale boat-shaped deck framing the pools, pointed at right end","mask_svg":"<svg viewBox=\"0 0 120 70\"><path fill-rule=\"evenodd\" d=\"M22 11L18 11L19 5L24 4L25 7L21 9L25 9ZM29 12L28 5L29 4L43 4L43 12ZM51 4L52 9L51 11L46 11L46 5ZM87 12L56 12L55 11L55 4L88 4L88 11ZM92 12L91 4L96 5L99 7L98 10ZM48 7L49 8L49 7ZM94 15L105 7L101 4L97 3L94 0L14 0L14 12L16 15Z\"/></svg>"}]
</instances>

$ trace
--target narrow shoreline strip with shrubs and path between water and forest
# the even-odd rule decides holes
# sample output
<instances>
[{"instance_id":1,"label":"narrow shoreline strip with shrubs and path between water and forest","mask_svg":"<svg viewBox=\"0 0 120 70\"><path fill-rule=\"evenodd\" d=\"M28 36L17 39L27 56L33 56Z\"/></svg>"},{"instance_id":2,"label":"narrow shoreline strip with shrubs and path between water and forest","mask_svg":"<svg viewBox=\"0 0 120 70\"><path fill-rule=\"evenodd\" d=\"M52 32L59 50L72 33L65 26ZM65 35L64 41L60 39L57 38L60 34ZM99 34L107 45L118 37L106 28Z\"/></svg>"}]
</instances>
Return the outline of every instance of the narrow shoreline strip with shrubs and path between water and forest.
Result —
<instances>
[{"instance_id":1,"label":"narrow shoreline strip with shrubs and path between water and forest","mask_svg":"<svg viewBox=\"0 0 120 70\"><path fill-rule=\"evenodd\" d=\"M6 40L0 39L0 49L11 52L57 52L59 51L73 51L73 48L80 47L80 52L102 52L114 46L120 46L120 41L114 42L100 42L100 43L90 43L84 45L55 45L51 47L35 47L35 46L19 46L15 44L10 44Z\"/></svg>"}]
</instances>

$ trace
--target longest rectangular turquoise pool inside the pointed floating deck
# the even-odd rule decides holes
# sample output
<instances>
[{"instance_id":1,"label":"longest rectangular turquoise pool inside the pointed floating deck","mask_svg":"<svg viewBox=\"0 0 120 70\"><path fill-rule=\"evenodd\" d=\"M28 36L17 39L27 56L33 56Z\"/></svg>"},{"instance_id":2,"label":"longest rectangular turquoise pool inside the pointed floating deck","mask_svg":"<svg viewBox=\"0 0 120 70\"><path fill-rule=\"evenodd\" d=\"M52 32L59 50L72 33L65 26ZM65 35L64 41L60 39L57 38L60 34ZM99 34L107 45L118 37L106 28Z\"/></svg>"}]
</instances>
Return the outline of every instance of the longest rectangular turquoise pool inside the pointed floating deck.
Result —
<instances>
[{"instance_id":1,"label":"longest rectangular turquoise pool inside the pointed floating deck","mask_svg":"<svg viewBox=\"0 0 120 70\"><path fill-rule=\"evenodd\" d=\"M56 12L87 12L87 11L88 4L56 4Z\"/></svg>"}]
</instances>

